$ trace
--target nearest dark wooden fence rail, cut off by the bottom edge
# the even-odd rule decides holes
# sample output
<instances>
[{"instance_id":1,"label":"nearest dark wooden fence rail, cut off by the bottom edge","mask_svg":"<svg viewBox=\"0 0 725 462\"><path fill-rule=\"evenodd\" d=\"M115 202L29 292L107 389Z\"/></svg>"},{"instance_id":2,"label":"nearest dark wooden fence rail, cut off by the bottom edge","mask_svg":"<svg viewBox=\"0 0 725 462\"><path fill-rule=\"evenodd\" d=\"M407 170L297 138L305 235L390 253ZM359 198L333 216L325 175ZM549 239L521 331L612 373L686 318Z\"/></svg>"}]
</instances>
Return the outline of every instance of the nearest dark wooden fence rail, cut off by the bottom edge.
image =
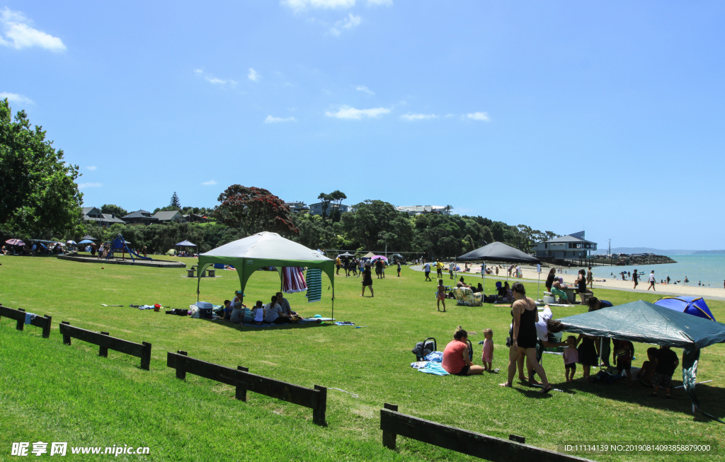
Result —
<instances>
[{"instance_id":1,"label":"nearest dark wooden fence rail, cut off by the bottom edge","mask_svg":"<svg viewBox=\"0 0 725 462\"><path fill-rule=\"evenodd\" d=\"M386 403L385 408L380 410L383 445L392 450L395 450L395 439L397 435L400 435L493 462L589 461L589 459L525 445L523 437L513 434L509 436L509 440L489 437L486 434L469 432L418 419L418 417L407 416L397 412L397 408L395 405Z\"/></svg>"}]
</instances>

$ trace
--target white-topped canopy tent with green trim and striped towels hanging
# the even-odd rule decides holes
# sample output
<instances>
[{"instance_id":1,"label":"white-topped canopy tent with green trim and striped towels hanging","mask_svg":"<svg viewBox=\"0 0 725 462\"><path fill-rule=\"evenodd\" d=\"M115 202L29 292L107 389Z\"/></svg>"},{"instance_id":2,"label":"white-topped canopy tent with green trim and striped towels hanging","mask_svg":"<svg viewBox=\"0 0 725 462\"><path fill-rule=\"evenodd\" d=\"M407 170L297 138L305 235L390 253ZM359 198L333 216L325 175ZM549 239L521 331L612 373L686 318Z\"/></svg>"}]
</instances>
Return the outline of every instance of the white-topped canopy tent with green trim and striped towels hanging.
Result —
<instances>
[{"instance_id":1,"label":"white-topped canopy tent with green trim and striped towels hanging","mask_svg":"<svg viewBox=\"0 0 725 462\"><path fill-rule=\"evenodd\" d=\"M204 269L220 263L234 266L239 275L241 292L252 273L265 266L274 266L282 280L283 266L307 266L319 268L330 278L332 285L332 314L335 317L335 261L305 245L292 242L276 232L258 232L244 239L234 240L207 253L199 255L199 275L196 282L196 298L199 298L199 282Z\"/></svg>"}]
</instances>

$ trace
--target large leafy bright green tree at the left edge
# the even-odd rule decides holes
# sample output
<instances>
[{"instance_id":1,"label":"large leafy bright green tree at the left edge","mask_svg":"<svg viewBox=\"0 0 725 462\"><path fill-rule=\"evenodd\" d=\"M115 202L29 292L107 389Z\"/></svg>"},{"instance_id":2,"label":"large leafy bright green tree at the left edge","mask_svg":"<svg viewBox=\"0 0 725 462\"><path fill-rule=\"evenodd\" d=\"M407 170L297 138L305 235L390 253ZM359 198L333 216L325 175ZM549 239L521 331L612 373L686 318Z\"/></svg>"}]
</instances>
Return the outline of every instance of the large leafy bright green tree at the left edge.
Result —
<instances>
[{"instance_id":1,"label":"large leafy bright green tree at the left edge","mask_svg":"<svg viewBox=\"0 0 725 462\"><path fill-rule=\"evenodd\" d=\"M0 101L0 235L47 239L77 226L78 165L52 144L42 127L30 128L25 111L13 122L7 98Z\"/></svg>"}]
</instances>

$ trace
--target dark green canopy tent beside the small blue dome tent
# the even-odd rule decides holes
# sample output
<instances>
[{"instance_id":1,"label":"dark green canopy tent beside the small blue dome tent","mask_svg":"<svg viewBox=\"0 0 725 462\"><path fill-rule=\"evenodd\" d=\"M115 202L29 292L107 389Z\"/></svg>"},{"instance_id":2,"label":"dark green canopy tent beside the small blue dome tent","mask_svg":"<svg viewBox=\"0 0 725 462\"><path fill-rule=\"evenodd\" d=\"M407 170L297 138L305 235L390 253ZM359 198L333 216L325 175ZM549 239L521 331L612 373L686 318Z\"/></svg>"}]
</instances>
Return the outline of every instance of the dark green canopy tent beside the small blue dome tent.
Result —
<instances>
[{"instance_id":1,"label":"dark green canopy tent beside the small blue dome tent","mask_svg":"<svg viewBox=\"0 0 725 462\"><path fill-rule=\"evenodd\" d=\"M700 350L713 343L725 343L725 324L642 300L567 316L559 321L566 332L682 348L682 383L692 399L692 411L697 409L725 423L703 412L695 396Z\"/></svg>"}]
</instances>

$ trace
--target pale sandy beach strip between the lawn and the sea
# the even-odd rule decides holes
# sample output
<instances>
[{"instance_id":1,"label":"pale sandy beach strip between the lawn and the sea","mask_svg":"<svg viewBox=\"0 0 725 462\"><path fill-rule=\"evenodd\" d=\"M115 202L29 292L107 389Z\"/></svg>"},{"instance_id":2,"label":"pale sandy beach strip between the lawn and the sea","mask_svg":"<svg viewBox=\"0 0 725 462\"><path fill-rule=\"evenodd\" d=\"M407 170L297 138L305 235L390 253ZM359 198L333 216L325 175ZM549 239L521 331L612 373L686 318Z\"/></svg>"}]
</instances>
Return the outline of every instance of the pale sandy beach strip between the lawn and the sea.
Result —
<instances>
[{"instance_id":1,"label":"pale sandy beach strip between the lawn and the sea","mask_svg":"<svg viewBox=\"0 0 725 462\"><path fill-rule=\"evenodd\" d=\"M463 263L459 263L458 266L460 266L461 269L464 268ZM472 264L469 265L471 267L471 272L465 273L465 272L459 272L458 274L463 275L466 279L467 283L475 282L475 280L468 280L468 275L470 274L472 277L480 278L481 277L481 264ZM488 268L494 269L495 273L495 267L487 264ZM444 276L448 277L447 267L445 266L446 270L444 271ZM420 266L416 266L414 269L418 269ZM499 275L498 279L505 280L506 279L506 272L507 272L508 266L505 266L503 268L499 268ZM550 268L542 268L542 274L541 274L541 282L542 282L542 288L544 287L544 282L546 282L547 275L549 274ZM434 270L435 271L435 270ZM557 272L558 277L563 277L564 282L568 285L573 285L574 281L576 280L576 274L579 271L579 268L562 268L562 272ZM616 266L612 266L612 272L616 271ZM528 265L521 265L521 272L523 273L523 278L521 280L533 280L537 281L539 280L539 275L537 274L536 266L528 266ZM435 274L435 272L434 272ZM493 276L486 275L486 279L489 277L493 277L496 279L496 275ZM649 287L650 283L647 282L647 274L642 275L643 280L639 281L639 285L637 285L637 290L634 290L634 292L647 292L647 287ZM513 278L510 278L509 280L514 280ZM606 280L597 279L595 277L594 282L594 289L596 293L597 287L600 287L602 289L618 289L618 290L627 290L627 291L633 291L634 282L629 281L623 281L623 280L615 280L615 279L609 279ZM662 295L692 295L692 296L699 296L703 298L712 298L716 300L725 300L725 289L723 287L702 287L698 286L697 282L695 282L695 285L693 286L692 283L690 285L679 285L679 284L655 284L655 289L658 293L662 293ZM650 289L650 293L652 290Z\"/></svg>"}]
</instances>

